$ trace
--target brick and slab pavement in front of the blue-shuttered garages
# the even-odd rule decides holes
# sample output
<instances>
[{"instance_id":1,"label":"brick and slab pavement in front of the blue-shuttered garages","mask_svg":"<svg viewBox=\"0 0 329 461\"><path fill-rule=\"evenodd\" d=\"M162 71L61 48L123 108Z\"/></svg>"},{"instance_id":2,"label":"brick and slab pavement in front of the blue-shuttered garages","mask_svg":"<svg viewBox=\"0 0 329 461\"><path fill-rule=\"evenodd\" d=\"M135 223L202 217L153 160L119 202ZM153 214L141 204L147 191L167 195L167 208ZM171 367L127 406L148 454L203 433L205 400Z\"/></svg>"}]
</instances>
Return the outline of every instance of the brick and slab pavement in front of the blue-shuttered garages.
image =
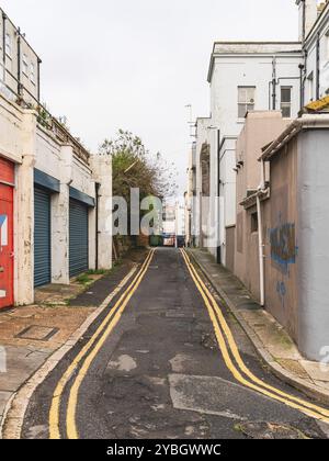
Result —
<instances>
[{"instance_id":1,"label":"brick and slab pavement in front of the blue-shuttered garages","mask_svg":"<svg viewBox=\"0 0 329 461\"><path fill-rule=\"evenodd\" d=\"M13 396L92 316L145 251L131 254L114 270L90 273L70 285L36 290L35 304L0 312L0 426ZM82 328L83 330L83 328Z\"/></svg>"}]
</instances>

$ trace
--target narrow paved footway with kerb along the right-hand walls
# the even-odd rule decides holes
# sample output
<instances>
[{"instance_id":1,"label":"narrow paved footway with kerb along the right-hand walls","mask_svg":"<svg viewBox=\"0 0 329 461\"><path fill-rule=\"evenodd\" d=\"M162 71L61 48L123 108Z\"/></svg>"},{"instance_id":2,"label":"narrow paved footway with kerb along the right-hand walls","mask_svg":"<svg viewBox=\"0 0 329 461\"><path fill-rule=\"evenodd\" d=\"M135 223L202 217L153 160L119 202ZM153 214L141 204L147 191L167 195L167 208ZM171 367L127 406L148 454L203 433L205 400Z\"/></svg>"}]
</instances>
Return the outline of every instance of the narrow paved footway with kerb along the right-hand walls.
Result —
<instances>
[{"instance_id":1,"label":"narrow paved footway with kerb along the right-hand walls","mask_svg":"<svg viewBox=\"0 0 329 461\"><path fill-rule=\"evenodd\" d=\"M306 360L284 328L254 301L246 286L217 265L208 251L190 249L271 371L310 397L329 404L329 366Z\"/></svg>"}]
</instances>

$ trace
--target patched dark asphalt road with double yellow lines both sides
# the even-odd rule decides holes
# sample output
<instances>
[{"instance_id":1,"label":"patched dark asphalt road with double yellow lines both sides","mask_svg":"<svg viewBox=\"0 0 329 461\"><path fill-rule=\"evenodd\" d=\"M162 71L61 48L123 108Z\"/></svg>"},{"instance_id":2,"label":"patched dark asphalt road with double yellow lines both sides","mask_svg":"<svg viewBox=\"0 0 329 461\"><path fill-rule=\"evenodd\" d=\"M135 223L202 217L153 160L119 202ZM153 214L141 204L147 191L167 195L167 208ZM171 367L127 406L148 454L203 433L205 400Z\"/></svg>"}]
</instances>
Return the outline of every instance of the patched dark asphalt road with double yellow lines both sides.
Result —
<instances>
[{"instance_id":1,"label":"patched dark asphalt road with double yellow lines both sides","mask_svg":"<svg viewBox=\"0 0 329 461\"><path fill-rule=\"evenodd\" d=\"M184 251L157 249L34 393L25 439L326 438Z\"/></svg>"}]
</instances>

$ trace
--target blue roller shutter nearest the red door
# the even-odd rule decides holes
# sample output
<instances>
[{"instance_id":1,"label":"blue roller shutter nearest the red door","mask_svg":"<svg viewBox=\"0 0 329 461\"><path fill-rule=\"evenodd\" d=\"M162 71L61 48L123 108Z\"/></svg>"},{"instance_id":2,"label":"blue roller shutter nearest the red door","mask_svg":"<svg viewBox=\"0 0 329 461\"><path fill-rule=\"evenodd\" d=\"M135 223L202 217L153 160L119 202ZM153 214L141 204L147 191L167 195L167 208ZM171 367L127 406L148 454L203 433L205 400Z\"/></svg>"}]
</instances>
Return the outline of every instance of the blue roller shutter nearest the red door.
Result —
<instances>
[{"instance_id":1,"label":"blue roller shutter nearest the red door","mask_svg":"<svg viewBox=\"0 0 329 461\"><path fill-rule=\"evenodd\" d=\"M50 194L34 188L34 285L52 281Z\"/></svg>"}]
</instances>

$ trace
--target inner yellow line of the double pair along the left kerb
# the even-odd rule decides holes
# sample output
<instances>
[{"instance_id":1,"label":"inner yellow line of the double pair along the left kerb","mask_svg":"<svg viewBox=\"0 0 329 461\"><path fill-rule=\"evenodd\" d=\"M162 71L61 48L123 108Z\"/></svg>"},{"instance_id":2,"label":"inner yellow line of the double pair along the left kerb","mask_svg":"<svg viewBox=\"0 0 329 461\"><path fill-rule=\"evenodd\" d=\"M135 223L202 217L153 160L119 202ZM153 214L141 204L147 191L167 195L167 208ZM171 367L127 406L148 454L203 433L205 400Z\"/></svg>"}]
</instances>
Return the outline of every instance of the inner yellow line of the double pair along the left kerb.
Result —
<instances>
[{"instance_id":1,"label":"inner yellow line of the double pair along the left kerb","mask_svg":"<svg viewBox=\"0 0 329 461\"><path fill-rule=\"evenodd\" d=\"M75 379L75 382L73 382L73 384L70 389L70 394L69 394L69 400L68 400L68 405L67 405L66 427L67 427L67 436L68 436L69 439L79 439L78 428L77 428L77 424L76 424L76 413L77 413L78 394L79 394L80 386L81 386L81 384L82 384L82 382L83 382L83 380L84 380L84 378L88 373L88 370L89 370L91 363L93 362L97 355L99 353L99 351L103 347L104 342L106 341L106 339L109 338L109 336L111 335L111 333L113 331L113 329L115 328L117 323L120 322L125 307L127 306L132 296L134 295L134 293L138 289L139 284L141 283L143 279L144 279L144 276L146 274L146 272L147 272L147 270L148 270L148 268L151 263L154 254L155 254L155 250L152 250L151 256L150 256L147 265L145 266L143 272L140 273L136 284L131 290L128 296L125 299L125 301L122 303L122 305L117 310L116 314L114 315L113 319L109 324L107 328L105 329L105 331L103 333L101 338L98 340L98 344L93 347L91 352L86 358L82 367L79 370L79 373L78 373L77 378Z\"/></svg>"}]
</instances>

